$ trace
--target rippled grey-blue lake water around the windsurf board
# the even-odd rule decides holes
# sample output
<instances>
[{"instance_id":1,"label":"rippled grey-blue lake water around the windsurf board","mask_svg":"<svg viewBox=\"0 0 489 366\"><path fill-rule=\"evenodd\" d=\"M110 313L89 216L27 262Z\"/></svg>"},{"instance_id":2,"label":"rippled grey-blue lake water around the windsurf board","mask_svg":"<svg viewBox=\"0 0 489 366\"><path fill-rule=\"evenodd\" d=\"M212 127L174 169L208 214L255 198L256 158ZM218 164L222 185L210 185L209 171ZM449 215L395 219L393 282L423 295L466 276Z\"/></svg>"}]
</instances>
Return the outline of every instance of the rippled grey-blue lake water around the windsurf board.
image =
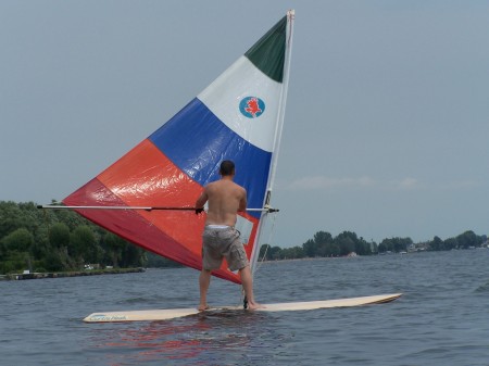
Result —
<instances>
[{"instance_id":1,"label":"rippled grey-blue lake water around the windsurf board","mask_svg":"<svg viewBox=\"0 0 489 366\"><path fill-rule=\"evenodd\" d=\"M489 365L489 250L263 264L260 302L403 292L388 304L84 324L92 312L191 307L197 270L0 281L0 365ZM213 305L237 305L213 278Z\"/></svg>"}]
</instances>

